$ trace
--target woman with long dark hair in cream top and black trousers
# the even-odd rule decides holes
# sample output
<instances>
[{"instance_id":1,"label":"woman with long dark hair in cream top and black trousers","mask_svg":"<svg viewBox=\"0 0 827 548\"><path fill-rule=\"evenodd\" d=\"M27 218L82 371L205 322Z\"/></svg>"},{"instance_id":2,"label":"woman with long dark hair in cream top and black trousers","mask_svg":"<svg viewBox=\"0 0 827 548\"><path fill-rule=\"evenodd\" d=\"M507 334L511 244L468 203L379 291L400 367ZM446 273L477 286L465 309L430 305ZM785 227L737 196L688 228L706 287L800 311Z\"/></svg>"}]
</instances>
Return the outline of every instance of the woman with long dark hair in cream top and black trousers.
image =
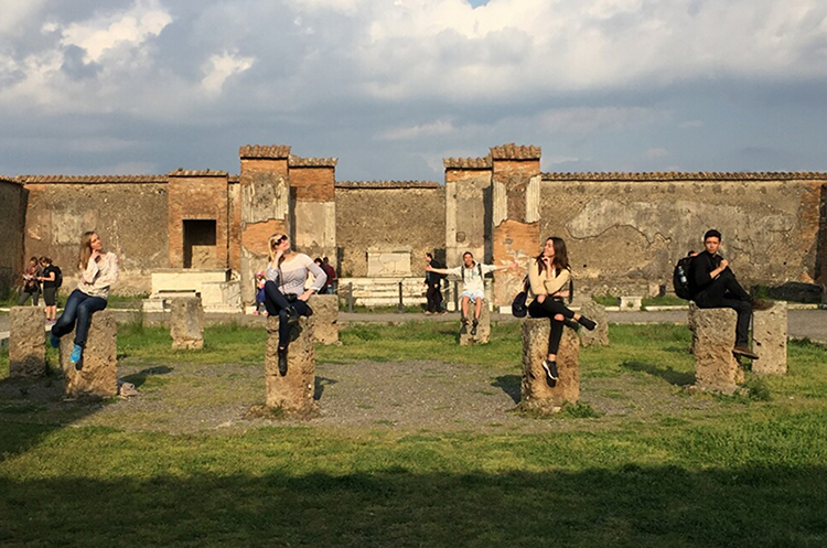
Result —
<instances>
[{"instance_id":1,"label":"woman with long dark hair in cream top and black trousers","mask_svg":"<svg viewBox=\"0 0 827 548\"><path fill-rule=\"evenodd\" d=\"M597 323L586 316L576 314L565 303L565 297L570 296L571 268L566 241L551 236L546 240L540 254L528 262L528 282L530 284L528 298L534 300L528 304L528 315L531 318L549 318L551 333L548 337L548 357L543 362L546 379L557 383L557 351L560 348L562 326L574 320L587 330L597 327ZM573 325L577 327L577 325Z\"/></svg>"}]
</instances>

